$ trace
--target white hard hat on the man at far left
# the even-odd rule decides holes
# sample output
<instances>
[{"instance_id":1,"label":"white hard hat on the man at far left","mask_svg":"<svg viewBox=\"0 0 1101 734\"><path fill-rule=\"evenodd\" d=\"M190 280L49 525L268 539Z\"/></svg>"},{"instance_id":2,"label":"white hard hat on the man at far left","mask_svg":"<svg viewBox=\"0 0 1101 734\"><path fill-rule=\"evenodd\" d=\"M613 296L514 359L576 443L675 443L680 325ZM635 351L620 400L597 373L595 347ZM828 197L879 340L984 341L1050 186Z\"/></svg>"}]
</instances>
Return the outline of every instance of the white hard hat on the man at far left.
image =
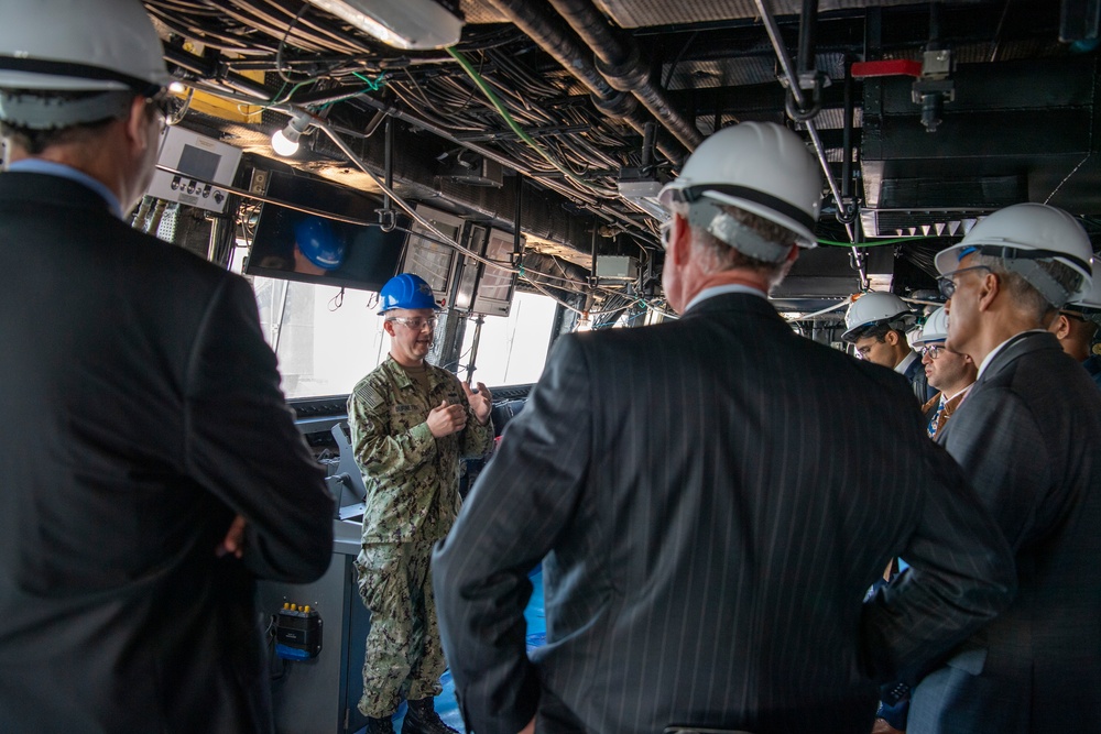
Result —
<instances>
[{"instance_id":1,"label":"white hard hat on the man at far left","mask_svg":"<svg viewBox=\"0 0 1101 734\"><path fill-rule=\"evenodd\" d=\"M72 119L57 100L33 109L20 90L151 97L172 81L161 39L138 0L0 0L0 119L14 124L22 116L48 117L53 108L65 123L94 121Z\"/></svg>"}]
</instances>

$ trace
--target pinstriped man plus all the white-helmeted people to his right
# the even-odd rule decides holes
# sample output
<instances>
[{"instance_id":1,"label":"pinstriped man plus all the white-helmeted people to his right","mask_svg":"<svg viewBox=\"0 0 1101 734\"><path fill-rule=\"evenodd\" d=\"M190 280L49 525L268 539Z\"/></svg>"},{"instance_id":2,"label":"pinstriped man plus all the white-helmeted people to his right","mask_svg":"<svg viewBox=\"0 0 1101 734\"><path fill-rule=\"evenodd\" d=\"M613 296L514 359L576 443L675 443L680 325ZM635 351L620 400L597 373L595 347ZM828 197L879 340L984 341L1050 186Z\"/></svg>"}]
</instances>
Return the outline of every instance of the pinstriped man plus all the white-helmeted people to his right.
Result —
<instances>
[{"instance_id":1,"label":"pinstriped man plus all the white-helmeted people to his right","mask_svg":"<svg viewBox=\"0 0 1101 734\"><path fill-rule=\"evenodd\" d=\"M1101 392L1048 330L1089 303L1089 238L1050 206L986 217L937 258L920 359L913 310L872 293L848 314L858 362L764 299L818 186L794 133L719 131L663 191L682 318L557 348L435 556L476 731L1101 719ZM528 660L544 556L550 645ZM909 691L908 721L873 722L869 679Z\"/></svg>"}]
</instances>

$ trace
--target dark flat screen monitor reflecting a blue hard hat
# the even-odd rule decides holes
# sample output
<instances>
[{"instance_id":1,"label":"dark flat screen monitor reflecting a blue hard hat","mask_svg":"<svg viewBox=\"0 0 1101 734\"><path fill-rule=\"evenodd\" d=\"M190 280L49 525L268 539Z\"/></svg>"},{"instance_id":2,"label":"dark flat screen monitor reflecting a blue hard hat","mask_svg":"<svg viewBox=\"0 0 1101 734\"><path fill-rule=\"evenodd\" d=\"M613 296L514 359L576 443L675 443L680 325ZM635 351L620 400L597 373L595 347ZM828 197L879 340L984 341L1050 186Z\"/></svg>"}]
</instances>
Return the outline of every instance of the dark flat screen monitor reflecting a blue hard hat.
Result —
<instances>
[{"instance_id":1,"label":"dark flat screen monitor reflecting a blue hard hat","mask_svg":"<svg viewBox=\"0 0 1101 734\"><path fill-rule=\"evenodd\" d=\"M282 172L269 174L266 196L337 217L371 222L382 202L342 186ZM408 219L384 232L272 202L261 205L244 272L302 283L379 291L397 274Z\"/></svg>"}]
</instances>

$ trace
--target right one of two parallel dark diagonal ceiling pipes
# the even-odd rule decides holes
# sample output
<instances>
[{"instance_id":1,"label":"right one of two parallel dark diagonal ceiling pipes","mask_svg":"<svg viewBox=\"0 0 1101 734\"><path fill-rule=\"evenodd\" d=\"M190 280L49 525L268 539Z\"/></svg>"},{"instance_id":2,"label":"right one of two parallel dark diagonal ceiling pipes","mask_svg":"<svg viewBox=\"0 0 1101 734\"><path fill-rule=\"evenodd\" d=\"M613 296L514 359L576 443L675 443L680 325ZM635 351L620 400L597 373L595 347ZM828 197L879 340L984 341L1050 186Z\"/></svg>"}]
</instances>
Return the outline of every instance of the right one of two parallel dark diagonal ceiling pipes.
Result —
<instances>
[{"instance_id":1,"label":"right one of two parallel dark diagonal ceiling pipes","mask_svg":"<svg viewBox=\"0 0 1101 734\"><path fill-rule=\"evenodd\" d=\"M704 141L702 133L674 107L665 90L651 81L637 44L615 37L591 0L550 0L550 4L597 54L597 68L608 83L634 95L689 152L696 150Z\"/></svg>"}]
</instances>

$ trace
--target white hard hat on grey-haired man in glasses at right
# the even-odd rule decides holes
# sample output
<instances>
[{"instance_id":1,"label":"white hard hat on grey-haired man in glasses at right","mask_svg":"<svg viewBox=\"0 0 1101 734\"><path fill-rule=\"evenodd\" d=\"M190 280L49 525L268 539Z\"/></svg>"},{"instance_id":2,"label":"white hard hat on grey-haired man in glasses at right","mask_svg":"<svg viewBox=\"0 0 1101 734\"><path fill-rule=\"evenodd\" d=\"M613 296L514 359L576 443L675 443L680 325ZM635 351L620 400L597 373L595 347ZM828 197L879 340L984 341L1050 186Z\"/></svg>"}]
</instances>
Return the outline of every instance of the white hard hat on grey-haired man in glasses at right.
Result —
<instances>
[{"instance_id":1,"label":"white hard hat on grey-haired man in glasses at right","mask_svg":"<svg viewBox=\"0 0 1101 734\"><path fill-rule=\"evenodd\" d=\"M958 244L937 253L941 275L959 270L959 261L978 252L1001 258L1006 270L1018 273L1056 308L1090 291L1093 275L1090 238L1072 216L1046 204L1015 204L999 209L978 224ZM1055 260L1082 275L1079 289L1067 293L1055 278L1036 267L1036 260Z\"/></svg>"}]
</instances>

